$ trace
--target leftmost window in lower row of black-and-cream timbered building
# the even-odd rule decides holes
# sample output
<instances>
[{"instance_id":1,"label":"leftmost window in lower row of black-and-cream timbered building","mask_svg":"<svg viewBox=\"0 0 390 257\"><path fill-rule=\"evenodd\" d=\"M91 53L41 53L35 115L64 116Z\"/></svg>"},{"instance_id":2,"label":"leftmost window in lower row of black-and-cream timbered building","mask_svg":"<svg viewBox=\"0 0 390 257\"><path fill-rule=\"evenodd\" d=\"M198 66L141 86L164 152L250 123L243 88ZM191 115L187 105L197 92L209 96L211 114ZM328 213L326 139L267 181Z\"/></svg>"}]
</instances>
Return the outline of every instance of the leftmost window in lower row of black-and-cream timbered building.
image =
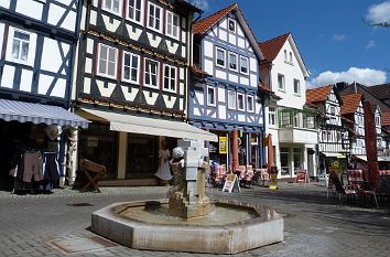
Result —
<instances>
[{"instance_id":1,"label":"leftmost window in lower row of black-and-cream timbered building","mask_svg":"<svg viewBox=\"0 0 390 257\"><path fill-rule=\"evenodd\" d=\"M98 75L115 78L117 76L118 50L105 44L99 46Z\"/></svg>"}]
</instances>

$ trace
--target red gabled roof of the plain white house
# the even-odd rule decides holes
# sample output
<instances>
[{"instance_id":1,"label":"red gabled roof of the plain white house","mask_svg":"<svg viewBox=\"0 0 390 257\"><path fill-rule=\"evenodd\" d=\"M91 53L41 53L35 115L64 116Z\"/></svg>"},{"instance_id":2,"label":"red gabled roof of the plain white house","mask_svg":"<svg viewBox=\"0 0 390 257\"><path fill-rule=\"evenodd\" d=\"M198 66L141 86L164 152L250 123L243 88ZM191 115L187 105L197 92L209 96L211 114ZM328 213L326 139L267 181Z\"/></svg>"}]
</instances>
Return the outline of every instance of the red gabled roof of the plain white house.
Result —
<instances>
[{"instance_id":1,"label":"red gabled roof of the plain white house","mask_svg":"<svg viewBox=\"0 0 390 257\"><path fill-rule=\"evenodd\" d=\"M293 50L293 52L296 56L296 60L297 60L300 67L303 72L303 75L305 77L308 77L310 74L306 69L306 66L303 62L300 50L297 49L291 32L288 32L283 35L279 35L277 38L264 41L262 43L258 43L259 47L261 50L261 53L264 55L264 58L266 58L263 62L273 62L275 60L275 57L278 56L278 54L280 53L280 51L282 50L282 47L286 41L289 41L291 44L291 49Z\"/></svg>"}]
</instances>

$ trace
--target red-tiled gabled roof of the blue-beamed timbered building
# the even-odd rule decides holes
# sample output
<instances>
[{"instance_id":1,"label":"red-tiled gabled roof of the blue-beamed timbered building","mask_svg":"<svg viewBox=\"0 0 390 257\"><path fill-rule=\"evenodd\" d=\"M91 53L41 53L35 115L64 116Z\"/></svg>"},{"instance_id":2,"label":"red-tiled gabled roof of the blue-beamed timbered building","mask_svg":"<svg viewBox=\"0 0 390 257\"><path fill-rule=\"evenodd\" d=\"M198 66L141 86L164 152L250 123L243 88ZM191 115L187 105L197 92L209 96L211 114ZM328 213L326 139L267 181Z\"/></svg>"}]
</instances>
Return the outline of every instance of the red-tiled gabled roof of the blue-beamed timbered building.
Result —
<instances>
[{"instance_id":1,"label":"red-tiled gabled roof of the blue-beamed timbered building","mask_svg":"<svg viewBox=\"0 0 390 257\"><path fill-rule=\"evenodd\" d=\"M220 20L223 20L228 13L231 11L236 11L236 18L238 22L240 23L243 33L248 38L249 42L252 45L252 49L254 51L254 54L258 56L259 61L263 60L264 56L260 51L260 47L258 46L256 35L252 32L252 30L249 26L249 23L247 22L246 18L242 14L242 11L238 8L237 3L232 3L228 6L227 8L224 8L220 11L217 11L216 13L206 17L197 22L194 23L193 25L193 33L194 35L203 35L205 34L208 30L210 30L214 25L216 25Z\"/></svg>"}]
</instances>

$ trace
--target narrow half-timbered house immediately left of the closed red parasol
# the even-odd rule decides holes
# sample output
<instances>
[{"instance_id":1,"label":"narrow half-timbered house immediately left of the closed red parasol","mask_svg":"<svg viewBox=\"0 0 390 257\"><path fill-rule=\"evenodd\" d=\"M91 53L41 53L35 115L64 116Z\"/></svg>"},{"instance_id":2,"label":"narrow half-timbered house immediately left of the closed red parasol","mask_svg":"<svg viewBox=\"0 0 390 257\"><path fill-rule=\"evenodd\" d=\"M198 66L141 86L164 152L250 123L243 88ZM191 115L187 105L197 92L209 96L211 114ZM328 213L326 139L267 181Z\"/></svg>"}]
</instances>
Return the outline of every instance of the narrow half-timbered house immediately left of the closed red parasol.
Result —
<instances>
[{"instance_id":1,"label":"narrow half-timbered house immediately left of the closed red parasol","mask_svg":"<svg viewBox=\"0 0 390 257\"><path fill-rule=\"evenodd\" d=\"M348 131L350 139L350 154L367 160L366 157L366 140L365 140L365 111L362 107L362 94L353 93L342 95L343 105L340 114L343 117L351 120Z\"/></svg>"}]
</instances>

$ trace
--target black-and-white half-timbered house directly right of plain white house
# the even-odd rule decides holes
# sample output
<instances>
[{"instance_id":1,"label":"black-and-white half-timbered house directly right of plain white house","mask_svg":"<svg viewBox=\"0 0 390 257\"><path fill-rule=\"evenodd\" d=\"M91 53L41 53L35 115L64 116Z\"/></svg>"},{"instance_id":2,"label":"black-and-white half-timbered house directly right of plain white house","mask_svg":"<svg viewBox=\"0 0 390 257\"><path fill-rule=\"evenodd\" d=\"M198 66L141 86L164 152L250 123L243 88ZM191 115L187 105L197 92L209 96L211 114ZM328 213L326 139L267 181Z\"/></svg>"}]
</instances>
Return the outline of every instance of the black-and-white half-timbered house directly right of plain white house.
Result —
<instances>
[{"instance_id":1,"label":"black-and-white half-timbered house directly right of plain white house","mask_svg":"<svg viewBox=\"0 0 390 257\"><path fill-rule=\"evenodd\" d=\"M342 117L343 99L334 85L306 90L306 100L318 108L319 173L328 171L336 160L345 160L349 153L347 124ZM339 161L346 165L346 161Z\"/></svg>"}]
</instances>

